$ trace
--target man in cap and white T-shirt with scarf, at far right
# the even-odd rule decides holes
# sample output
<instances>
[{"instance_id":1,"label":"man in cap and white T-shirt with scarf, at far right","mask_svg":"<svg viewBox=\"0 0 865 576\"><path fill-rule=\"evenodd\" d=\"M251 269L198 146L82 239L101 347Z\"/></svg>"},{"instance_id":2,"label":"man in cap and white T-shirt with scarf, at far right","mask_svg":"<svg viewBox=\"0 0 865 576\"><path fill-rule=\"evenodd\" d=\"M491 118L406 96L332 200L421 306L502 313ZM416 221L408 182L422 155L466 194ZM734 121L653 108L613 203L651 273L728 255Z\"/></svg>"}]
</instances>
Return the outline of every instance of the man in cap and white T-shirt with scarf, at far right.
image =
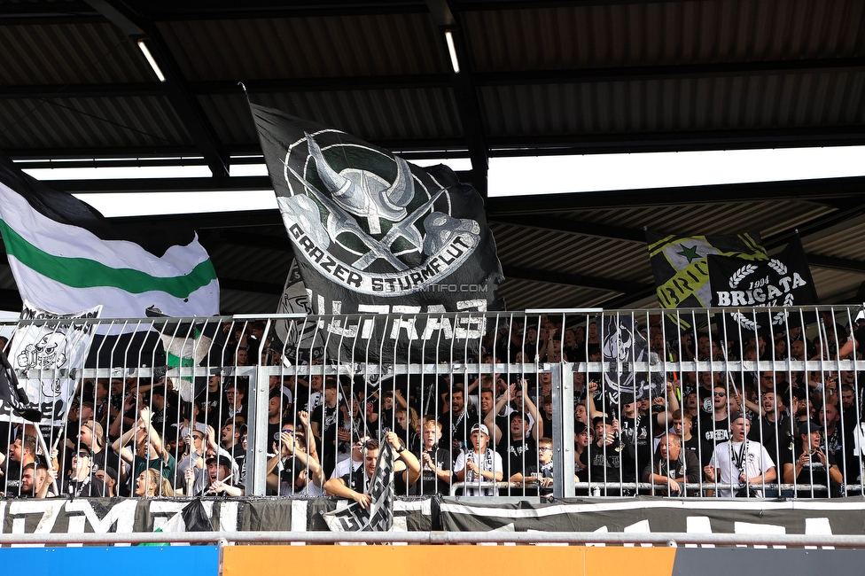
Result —
<instances>
[{"instance_id":1,"label":"man in cap and white T-shirt with scarf, at far right","mask_svg":"<svg viewBox=\"0 0 865 576\"><path fill-rule=\"evenodd\" d=\"M760 442L747 440L751 422L741 412L730 417L730 440L719 443L712 459L705 466L705 478L721 485L718 495L734 495L733 486L747 484L748 490L736 490L736 495L762 495L761 487L778 477L775 463ZM726 487L723 487L726 486ZM708 490L707 495L712 495Z\"/></svg>"}]
</instances>

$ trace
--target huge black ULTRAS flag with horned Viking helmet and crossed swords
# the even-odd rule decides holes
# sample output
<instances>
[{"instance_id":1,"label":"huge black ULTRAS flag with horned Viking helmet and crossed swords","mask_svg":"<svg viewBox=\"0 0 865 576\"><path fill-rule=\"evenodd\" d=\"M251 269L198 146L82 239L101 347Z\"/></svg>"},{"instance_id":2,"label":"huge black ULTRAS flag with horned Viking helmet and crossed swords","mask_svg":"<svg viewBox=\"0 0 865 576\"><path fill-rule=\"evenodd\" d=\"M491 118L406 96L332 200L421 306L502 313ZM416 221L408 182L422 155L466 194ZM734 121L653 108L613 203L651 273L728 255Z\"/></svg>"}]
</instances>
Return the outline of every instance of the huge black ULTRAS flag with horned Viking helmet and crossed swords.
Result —
<instances>
[{"instance_id":1,"label":"huge black ULTRAS flag with horned Viking helmet and crossed swords","mask_svg":"<svg viewBox=\"0 0 865 576\"><path fill-rule=\"evenodd\" d=\"M320 325L331 359L473 354L486 332L481 316L443 314L503 309L502 265L478 192L448 167L417 167L340 130L250 109L310 306L365 315ZM392 321L376 321L382 313Z\"/></svg>"}]
</instances>

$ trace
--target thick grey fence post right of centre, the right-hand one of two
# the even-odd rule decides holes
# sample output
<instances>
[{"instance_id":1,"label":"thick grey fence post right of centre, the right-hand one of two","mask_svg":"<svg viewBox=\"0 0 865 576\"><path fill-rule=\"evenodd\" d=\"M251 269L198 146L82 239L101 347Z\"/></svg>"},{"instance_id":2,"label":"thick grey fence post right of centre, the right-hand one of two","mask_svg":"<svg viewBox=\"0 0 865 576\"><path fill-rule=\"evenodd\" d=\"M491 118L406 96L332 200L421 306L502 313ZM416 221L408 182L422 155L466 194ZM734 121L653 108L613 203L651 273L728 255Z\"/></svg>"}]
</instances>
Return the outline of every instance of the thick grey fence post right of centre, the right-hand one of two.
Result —
<instances>
[{"instance_id":1,"label":"thick grey fence post right of centre, the right-hand one of two","mask_svg":"<svg viewBox=\"0 0 865 576\"><path fill-rule=\"evenodd\" d=\"M573 496L573 364L550 367L553 381L553 497Z\"/></svg>"}]
</instances>

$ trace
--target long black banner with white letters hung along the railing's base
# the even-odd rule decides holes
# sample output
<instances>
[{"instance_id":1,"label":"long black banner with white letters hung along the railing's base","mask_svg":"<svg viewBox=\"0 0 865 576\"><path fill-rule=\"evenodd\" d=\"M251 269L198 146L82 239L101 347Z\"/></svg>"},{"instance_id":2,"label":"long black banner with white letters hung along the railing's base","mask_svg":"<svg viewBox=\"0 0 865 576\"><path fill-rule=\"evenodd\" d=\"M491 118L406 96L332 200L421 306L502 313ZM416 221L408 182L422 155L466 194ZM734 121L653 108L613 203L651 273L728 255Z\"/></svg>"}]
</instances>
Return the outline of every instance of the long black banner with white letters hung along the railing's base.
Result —
<instances>
[{"instance_id":1,"label":"long black banner with white letters hung along the railing's base","mask_svg":"<svg viewBox=\"0 0 865 576\"><path fill-rule=\"evenodd\" d=\"M189 530L174 521L190 504L171 500L98 499L0 501L2 533L165 533ZM214 530L225 532L326 532L322 512L344 502L330 498L202 499ZM449 532L588 533L786 533L865 534L865 501L562 500L552 503L495 504L445 498L394 502L393 532L424 532L440 521Z\"/></svg>"}]
</instances>

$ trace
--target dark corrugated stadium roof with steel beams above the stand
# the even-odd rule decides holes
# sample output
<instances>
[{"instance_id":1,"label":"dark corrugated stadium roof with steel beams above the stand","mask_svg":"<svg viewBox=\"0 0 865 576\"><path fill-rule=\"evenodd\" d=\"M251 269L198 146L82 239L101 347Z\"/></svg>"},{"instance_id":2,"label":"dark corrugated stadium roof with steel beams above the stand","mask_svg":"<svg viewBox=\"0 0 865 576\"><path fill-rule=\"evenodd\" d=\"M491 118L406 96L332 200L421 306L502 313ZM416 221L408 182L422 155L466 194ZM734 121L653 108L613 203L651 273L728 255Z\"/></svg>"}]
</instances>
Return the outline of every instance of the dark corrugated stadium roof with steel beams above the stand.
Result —
<instances>
[{"instance_id":1,"label":"dark corrugated stadium roof with steel beams above the stand","mask_svg":"<svg viewBox=\"0 0 865 576\"><path fill-rule=\"evenodd\" d=\"M865 144L863 31L858 0L0 0L0 148L213 174L67 191L261 190L229 175L261 161L238 82L409 160L469 159L483 194L495 157ZM822 303L865 300L861 177L491 195L487 217L511 309L655 306L643 227L770 248L798 229ZM170 218L199 227L223 312L276 308L292 253L275 210ZM5 265L0 289L19 306Z\"/></svg>"}]
</instances>

